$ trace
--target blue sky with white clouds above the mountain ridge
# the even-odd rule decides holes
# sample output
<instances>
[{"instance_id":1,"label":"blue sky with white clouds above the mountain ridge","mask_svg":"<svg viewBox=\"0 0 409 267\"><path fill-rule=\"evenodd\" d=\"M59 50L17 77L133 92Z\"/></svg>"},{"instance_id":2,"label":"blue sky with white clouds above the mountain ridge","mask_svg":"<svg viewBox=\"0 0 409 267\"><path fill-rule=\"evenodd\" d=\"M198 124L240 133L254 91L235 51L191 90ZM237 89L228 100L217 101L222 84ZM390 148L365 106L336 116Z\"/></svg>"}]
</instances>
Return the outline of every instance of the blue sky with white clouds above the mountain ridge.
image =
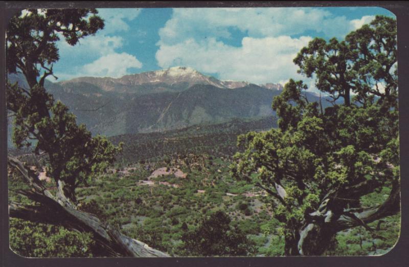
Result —
<instances>
[{"instance_id":1,"label":"blue sky with white clouds above the mountain ridge","mask_svg":"<svg viewBox=\"0 0 409 267\"><path fill-rule=\"evenodd\" d=\"M343 39L387 9L147 8L98 9L103 30L74 47L63 40L60 80L189 66L221 80L256 84L303 79L292 59L314 37ZM312 85L312 81L311 86Z\"/></svg>"}]
</instances>

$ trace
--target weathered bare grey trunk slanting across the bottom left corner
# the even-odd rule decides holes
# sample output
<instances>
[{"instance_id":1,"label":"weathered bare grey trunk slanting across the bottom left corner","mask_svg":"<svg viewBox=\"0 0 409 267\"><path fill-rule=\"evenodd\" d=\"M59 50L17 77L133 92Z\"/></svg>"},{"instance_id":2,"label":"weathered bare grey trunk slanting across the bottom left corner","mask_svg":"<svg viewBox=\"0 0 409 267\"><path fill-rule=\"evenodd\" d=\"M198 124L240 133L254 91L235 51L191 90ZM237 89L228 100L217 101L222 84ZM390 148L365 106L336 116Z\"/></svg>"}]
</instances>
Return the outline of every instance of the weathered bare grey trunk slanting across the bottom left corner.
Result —
<instances>
[{"instance_id":1,"label":"weathered bare grey trunk slanting across the bottom left corner","mask_svg":"<svg viewBox=\"0 0 409 267\"><path fill-rule=\"evenodd\" d=\"M105 225L96 216L76 210L71 205L57 199L43 187L38 177L16 158L8 157L8 164L16 168L23 179L32 186L30 191L19 191L40 205L9 204L10 217L60 225L68 229L93 233L96 246L101 254L114 257L169 257L168 254L150 248L146 243L121 234Z\"/></svg>"}]
</instances>

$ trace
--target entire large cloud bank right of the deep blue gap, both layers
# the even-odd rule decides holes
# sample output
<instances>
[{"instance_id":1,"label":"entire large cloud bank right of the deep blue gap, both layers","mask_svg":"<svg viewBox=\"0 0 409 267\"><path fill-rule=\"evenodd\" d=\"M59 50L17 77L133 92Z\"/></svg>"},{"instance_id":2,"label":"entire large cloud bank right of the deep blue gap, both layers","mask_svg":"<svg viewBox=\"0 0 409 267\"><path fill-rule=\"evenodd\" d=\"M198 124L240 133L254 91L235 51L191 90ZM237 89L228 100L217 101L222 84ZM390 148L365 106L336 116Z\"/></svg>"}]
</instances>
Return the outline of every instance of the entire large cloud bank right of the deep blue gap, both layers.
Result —
<instances>
[{"instance_id":1,"label":"entire large cloud bank right of the deep blue gap, both layers","mask_svg":"<svg viewBox=\"0 0 409 267\"><path fill-rule=\"evenodd\" d=\"M372 16L348 20L317 8L192 8L173 9L159 30L158 65L187 65L221 79L254 83L305 79L292 59L315 31L343 38L371 21ZM241 46L230 46L231 29L243 33ZM310 83L310 81L308 81Z\"/></svg>"}]
</instances>

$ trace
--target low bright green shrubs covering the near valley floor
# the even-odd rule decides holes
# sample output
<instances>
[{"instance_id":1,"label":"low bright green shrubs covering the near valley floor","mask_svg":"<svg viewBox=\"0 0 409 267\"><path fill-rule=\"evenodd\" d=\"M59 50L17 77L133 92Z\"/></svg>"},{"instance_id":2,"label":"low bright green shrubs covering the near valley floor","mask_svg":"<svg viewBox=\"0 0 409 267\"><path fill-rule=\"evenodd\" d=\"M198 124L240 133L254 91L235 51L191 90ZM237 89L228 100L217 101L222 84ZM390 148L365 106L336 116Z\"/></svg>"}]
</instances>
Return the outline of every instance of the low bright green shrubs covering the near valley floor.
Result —
<instances>
[{"instance_id":1,"label":"low bright green shrubs covering the near valley floor","mask_svg":"<svg viewBox=\"0 0 409 267\"><path fill-rule=\"evenodd\" d=\"M243 181L233 180L225 173L227 171L225 167L230 164L230 160L214 158L213 161L217 166L209 166L210 169L205 169L205 172L193 173L184 170L190 178L179 179L179 188L162 185L153 187L138 185L136 181L143 180L150 175L149 172L145 172L145 165L130 166L135 168L135 171L122 177L118 176L118 173L106 174L104 177L99 177L90 183L92 187L77 189L79 198L86 197L81 202L79 209L96 214L127 236L146 242L153 248L178 256L187 254L187 251L184 250L185 242L181 240L181 237L184 233L195 231L200 227L203 216L202 210L209 217L215 210L221 210L229 214L232 220L230 222L231 229L237 228L248 239L255 241L254 248L257 255L284 255L284 225L275 217L272 217L275 216L277 209L271 210L271 199L265 196L247 197L241 195L241 193L251 191L252 187L246 185ZM164 162L147 162L147 164L158 164L158 167L164 166ZM222 178L217 180L215 187L212 189L213 191L209 191L211 187L206 185L206 182L217 169L222 170L220 173ZM119 177L122 179L119 179ZM9 188L18 190L25 188L24 186L25 184L21 183L19 179L9 177ZM246 187L245 190L242 189L244 186ZM194 193L197 188L206 192ZM239 188L240 193L237 196L227 196L225 195L225 188L229 188L229 190ZM155 196L151 195L151 189L152 193L156 192ZM112 196L116 194L117 190L118 193L121 192L118 194L119 198L113 198ZM382 203L385 195L389 192L390 189L385 187L380 192L376 191L365 196L365 198L361 199L361 203L367 207L373 203ZM22 199L20 195L13 193L13 191L11 194L11 201L26 204L27 199ZM221 195L222 197L207 197L207 194ZM169 196L172 196L172 198L169 198ZM138 199L142 202L139 202ZM245 216L243 211L239 209L241 203L246 204L252 210L253 214L251 216ZM384 229L390 231L390 234L379 233L385 240L382 239L384 241L382 247L377 247L377 253L381 253L380 249L386 248L387 244L393 245L396 240L395 238L399 233L399 217L396 218L393 223L381 224L381 231ZM172 225L172 220L174 220L174 225ZM178 221L177 224L175 224L176 220ZM376 229L377 223L375 222L372 227ZM327 254L373 254L375 251L372 245L364 246L360 250L359 243L342 242L341 239L344 236L346 240L349 237L351 237L351 240L355 240L355 232L354 230L339 233L336 237L339 240L334 250L329 251ZM362 231L362 233L364 232ZM372 242L372 239L371 234L362 236L364 244ZM29 241L26 243L28 244ZM31 246L34 247L32 244Z\"/></svg>"}]
</instances>

